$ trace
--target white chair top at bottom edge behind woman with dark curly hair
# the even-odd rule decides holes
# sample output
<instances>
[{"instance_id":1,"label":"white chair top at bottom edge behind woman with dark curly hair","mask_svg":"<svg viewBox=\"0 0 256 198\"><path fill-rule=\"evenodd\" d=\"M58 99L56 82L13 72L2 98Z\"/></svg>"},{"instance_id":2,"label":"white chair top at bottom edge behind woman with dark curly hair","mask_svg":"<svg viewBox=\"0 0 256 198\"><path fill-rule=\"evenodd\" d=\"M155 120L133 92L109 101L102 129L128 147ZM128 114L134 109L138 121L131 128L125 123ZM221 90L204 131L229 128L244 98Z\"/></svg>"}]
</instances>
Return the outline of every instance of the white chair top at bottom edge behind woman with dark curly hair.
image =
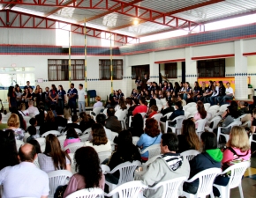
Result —
<instances>
[{"instance_id":1,"label":"white chair top at bottom edge behind woman with dark curly hair","mask_svg":"<svg viewBox=\"0 0 256 198\"><path fill-rule=\"evenodd\" d=\"M85 188L66 196L66 198L104 198L104 191L99 187Z\"/></svg>"}]
</instances>

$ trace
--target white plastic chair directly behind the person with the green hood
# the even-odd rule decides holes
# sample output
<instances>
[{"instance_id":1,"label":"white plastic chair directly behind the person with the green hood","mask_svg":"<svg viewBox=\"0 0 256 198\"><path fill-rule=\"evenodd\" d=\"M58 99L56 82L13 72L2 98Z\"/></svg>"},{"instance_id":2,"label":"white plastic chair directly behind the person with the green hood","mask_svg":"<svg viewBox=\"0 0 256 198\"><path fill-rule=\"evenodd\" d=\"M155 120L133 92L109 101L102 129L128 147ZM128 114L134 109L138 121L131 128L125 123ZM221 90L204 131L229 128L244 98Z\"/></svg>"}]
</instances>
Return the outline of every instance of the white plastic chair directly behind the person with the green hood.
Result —
<instances>
[{"instance_id":1,"label":"white plastic chair directly behind the person with the green hood","mask_svg":"<svg viewBox=\"0 0 256 198\"><path fill-rule=\"evenodd\" d=\"M208 168L204 171L197 173L195 176L192 177L190 180L186 180L185 182L191 183L194 180L199 179L199 187L196 194L189 194L183 191L183 196L187 198L203 198L206 197L208 194L211 197L213 195L213 183L215 181L215 177L222 172L220 168Z\"/></svg>"}]
</instances>

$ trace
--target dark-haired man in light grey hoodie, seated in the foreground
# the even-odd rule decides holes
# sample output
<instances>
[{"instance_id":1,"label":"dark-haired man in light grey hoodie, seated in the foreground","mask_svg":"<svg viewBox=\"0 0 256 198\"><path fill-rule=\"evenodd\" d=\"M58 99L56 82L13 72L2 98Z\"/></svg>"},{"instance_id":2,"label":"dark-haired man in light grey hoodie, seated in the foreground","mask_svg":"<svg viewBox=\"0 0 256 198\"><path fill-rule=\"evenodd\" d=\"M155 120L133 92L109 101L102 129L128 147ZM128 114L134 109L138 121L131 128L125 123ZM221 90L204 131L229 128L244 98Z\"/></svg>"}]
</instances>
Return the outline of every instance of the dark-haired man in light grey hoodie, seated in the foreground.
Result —
<instances>
[{"instance_id":1,"label":"dark-haired man in light grey hoodie, seated in the foreground","mask_svg":"<svg viewBox=\"0 0 256 198\"><path fill-rule=\"evenodd\" d=\"M161 140L162 155L149 164L147 171L139 172L139 180L149 187L154 187L161 181L171 180L179 177L188 177L190 167L186 158L177 153L177 136L172 133L163 134ZM156 190L145 190L144 195L150 198L162 197L163 187ZM178 195L182 194L179 187Z\"/></svg>"}]
</instances>

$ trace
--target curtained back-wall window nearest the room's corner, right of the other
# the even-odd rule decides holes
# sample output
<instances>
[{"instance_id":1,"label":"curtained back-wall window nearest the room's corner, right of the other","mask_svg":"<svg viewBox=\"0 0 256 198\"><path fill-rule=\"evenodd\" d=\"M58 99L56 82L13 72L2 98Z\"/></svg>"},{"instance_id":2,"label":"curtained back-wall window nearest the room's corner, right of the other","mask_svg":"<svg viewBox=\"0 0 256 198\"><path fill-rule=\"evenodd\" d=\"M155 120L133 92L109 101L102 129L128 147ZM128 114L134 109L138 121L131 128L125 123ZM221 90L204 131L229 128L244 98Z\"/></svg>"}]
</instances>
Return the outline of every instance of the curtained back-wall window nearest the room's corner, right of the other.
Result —
<instances>
[{"instance_id":1,"label":"curtained back-wall window nearest the room's corner, right of the other","mask_svg":"<svg viewBox=\"0 0 256 198\"><path fill-rule=\"evenodd\" d=\"M123 60L112 60L113 80L123 79ZM110 80L110 60L100 60L100 80Z\"/></svg>"}]
</instances>

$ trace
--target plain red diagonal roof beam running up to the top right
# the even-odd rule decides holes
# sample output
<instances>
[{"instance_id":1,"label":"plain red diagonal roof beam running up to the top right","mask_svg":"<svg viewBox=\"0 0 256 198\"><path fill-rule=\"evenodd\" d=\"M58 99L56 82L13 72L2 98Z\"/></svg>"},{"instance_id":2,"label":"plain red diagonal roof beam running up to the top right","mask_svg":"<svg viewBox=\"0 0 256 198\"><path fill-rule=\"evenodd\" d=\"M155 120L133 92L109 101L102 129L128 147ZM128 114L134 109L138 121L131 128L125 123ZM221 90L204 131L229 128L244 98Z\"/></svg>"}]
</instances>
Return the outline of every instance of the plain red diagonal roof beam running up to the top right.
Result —
<instances>
[{"instance_id":1,"label":"plain red diagonal roof beam running up to the top right","mask_svg":"<svg viewBox=\"0 0 256 198\"><path fill-rule=\"evenodd\" d=\"M177 14L177 13L182 12L182 11L190 11L192 9L197 9L197 8L209 5L209 4L216 4L216 3L219 3L219 2L223 2L223 1L225 1L225 0L211 0L211 1L208 1L208 2L204 2L204 3L200 3L200 4L194 4L194 5L185 7L185 8L181 8L181 9L178 9L176 11L169 11L169 12L166 12L165 14L173 15L173 14ZM158 17L156 17L156 18L158 18ZM156 18L154 18L154 19L156 19ZM142 23L145 23L145 22L147 22L147 20L139 20L138 25L142 24ZM133 23L129 23L129 24L126 24L124 26L117 26L115 28L110 29L110 31L115 31L115 30L123 29L123 28L129 27L129 26L134 26L134 24Z\"/></svg>"}]
</instances>

